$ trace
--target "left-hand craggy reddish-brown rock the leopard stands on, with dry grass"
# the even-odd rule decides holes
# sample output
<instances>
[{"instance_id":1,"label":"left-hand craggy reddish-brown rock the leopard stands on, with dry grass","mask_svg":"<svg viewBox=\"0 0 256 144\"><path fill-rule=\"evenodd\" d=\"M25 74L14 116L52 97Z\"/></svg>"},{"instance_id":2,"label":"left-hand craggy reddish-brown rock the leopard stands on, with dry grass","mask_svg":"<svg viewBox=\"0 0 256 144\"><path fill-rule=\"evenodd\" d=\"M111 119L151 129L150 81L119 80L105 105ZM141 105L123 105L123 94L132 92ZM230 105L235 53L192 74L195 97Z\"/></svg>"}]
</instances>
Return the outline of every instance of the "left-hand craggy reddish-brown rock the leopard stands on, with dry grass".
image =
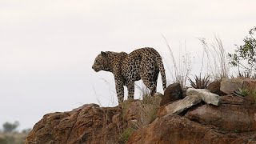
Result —
<instances>
[{"instance_id":1,"label":"left-hand craggy reddish-brown rock the leopard stands on, with dry grass","mask_svg":"<svg viewBox=\"0 0 256 144\"><path fill-rule=\"evenodd\" d=\"M159 100L154 102L159 105ZM46 114L25 143L124 143L125 134L152 122L157 109L156 104L137 100L116 107L86 104L72 111Z\"/></svg>"}]
</instances>

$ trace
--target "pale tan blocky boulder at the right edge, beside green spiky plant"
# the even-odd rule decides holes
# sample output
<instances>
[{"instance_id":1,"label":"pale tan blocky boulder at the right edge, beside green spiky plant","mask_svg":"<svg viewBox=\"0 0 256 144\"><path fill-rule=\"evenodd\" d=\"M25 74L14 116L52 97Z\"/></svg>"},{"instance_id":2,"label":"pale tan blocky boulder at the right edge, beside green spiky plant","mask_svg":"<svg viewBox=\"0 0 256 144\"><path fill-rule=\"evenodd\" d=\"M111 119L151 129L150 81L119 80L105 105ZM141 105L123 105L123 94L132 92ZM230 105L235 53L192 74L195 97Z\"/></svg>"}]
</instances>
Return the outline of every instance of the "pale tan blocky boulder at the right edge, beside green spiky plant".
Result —
<instances>
[{"instance_id":1,"label":"pale tan blocky boulder at the right edge, beside green spiky plant","mask_svg":"<svg viewBox=\"0 0 256 144\"><path fill-rule=\"evenodd\" d=\"M220 90L225 94L233 94L238 88L256 87L256 80L251 78L222 78Z\"/></svg>"}]
</instances>

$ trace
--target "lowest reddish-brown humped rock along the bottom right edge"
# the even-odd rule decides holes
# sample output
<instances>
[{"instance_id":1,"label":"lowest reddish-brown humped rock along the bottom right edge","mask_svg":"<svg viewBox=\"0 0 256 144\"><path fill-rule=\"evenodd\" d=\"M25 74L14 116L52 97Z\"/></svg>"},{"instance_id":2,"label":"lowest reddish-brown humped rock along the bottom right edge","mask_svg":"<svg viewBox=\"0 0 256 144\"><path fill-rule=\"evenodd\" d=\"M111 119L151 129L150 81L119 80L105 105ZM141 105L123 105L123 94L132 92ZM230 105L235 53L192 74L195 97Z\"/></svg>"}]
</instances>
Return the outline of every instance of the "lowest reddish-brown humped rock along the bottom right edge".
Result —
<instances>
[{"instance_id":1,"label":"lowest reddish-brown humped rock along the bottom right edge","mask_svg":"<svg viewBox=\"0 0 256 144\"><path fill-rule=\"evenodd\" d=\"M179 115L166 115L132 134L130 143L254 143L255 132L224 133Z\"/></svg>"}]
</instances>

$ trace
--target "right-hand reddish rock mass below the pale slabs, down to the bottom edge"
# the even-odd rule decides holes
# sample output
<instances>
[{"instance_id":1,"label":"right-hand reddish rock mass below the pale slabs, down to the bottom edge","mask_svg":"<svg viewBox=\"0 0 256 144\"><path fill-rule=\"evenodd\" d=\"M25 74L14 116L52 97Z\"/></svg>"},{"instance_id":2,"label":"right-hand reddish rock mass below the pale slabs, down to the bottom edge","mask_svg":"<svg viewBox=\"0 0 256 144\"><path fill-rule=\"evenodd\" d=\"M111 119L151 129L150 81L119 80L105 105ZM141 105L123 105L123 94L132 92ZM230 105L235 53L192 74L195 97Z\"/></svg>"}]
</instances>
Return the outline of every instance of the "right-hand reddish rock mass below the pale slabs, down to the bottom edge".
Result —
<instances>
[{"instance_id":1,"label":"right-hand reddish rock mass below the pale slabs, down to the bottom edge","mask_svg":"<svg viewBox=\"0 0 256 144\"><path fill-rule=\"evenodd\" d=\"M134 132L127 143L256 143L256 107L242 97L223 96L221 106L198 105L167 114Z\"/></svg>"}]
</instances>

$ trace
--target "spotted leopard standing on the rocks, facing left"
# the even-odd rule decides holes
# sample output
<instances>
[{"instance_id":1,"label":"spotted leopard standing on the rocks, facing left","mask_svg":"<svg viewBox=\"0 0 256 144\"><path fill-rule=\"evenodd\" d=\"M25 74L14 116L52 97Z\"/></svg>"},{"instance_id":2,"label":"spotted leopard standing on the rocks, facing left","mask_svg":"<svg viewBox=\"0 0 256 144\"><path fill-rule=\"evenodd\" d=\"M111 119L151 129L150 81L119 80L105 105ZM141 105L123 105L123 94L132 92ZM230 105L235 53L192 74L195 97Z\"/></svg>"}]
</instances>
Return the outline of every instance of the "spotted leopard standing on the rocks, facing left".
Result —
<instances>
[{"instance_id":1,"label":"spotted leopard standing on the rocks, facing left","mask_svg":"<svg viewBox=\"0 0 256 144\"><path fill-rule=\"evenodd\" d=\"M118 102L124 100L124 86L127 87L128 99L134 99L134 82L142 82L154 96L157 88L158 74L162 76L162 88L166 90L166 72L162 57L152 47L143 47L126 52L101 51L95 58L92 69L95 72L108 71L114 74Z\"/></svg>"}]
</instances>

